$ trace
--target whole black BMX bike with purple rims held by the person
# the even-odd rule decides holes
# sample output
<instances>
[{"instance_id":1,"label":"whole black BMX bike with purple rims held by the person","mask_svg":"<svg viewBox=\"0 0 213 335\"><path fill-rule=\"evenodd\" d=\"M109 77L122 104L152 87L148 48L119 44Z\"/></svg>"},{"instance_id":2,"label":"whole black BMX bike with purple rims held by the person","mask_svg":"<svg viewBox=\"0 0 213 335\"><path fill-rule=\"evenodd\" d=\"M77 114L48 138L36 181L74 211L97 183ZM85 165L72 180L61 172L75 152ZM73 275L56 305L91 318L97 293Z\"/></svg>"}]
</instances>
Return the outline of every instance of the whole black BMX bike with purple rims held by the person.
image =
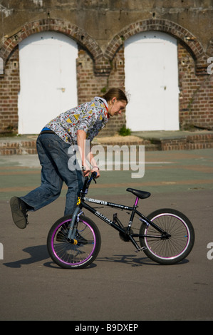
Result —
<instances>
[{"instance_id":1,"label":"whole black BMX bike with purple rims held by the person","mask_svg":"<svg viewBox=\"0 0 213 335\"><path fill-rule=\"evenodd\" d=\"M150 192L133 188L127 189L136 197L132 207L88 198L88 188L90 182L95 181L95 175L93 172L85 177L73 215L61 217L48 232L47 247L53 262L66 269L82 269L88 267L98 256L100 231L93 220L85 217L83 208L117 230L123 241L133 243L135 252L143 251L152 261L165 265L176 264L187 257L192 251L195 237L192 223L182 212L163 208L145 217L137 210L137 204L139 199L150 197ZM113 215L112 221L86 202L130 212L128 226L123 226L117 214ZM133 232L135 215L141 222L139 234Z\"/></svg>"}]
</instances>

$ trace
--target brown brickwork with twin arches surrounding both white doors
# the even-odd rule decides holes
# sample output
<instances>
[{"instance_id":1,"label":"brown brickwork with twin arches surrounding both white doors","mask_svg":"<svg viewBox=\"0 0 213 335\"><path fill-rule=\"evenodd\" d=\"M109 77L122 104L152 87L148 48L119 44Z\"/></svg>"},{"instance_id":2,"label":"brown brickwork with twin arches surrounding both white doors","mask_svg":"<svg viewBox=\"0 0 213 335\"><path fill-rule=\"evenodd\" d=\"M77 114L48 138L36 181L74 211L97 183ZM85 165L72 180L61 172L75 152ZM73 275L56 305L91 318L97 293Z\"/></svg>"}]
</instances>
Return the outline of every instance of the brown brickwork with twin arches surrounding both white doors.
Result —
<instances>
[{"instance_id":1,"label":"brown brickwork with twin arches surrounding both white doors","mask_svg":"<svg viewBox=\"0 0 213 335\"><path fill-rule=\"evenodd\" d=\"M77 66L78 103L100 96L113 86L124 88L124 41L140 31L157 30L170 33L178 41L178 66L180 83L180 124L213 128L213 75L207 75L207 55L194 36L181 26L167 20L144 20L130 24L108 44L105 54L98 43L77 26L56 19L43 19L27 24L8 38L1 48L4 59L4 76L0 77L0 133L17 130L19 52L18 45L31 33L58 31L78 41ZM185 36L188 37L185 40ZM182 41L182 42L181 42ZM190 51L190 52L189 52ZM192 56L193 55L193 56ZM125 113L111 118L101 135L112 135L125 124Z\"/></svg>"}]
</instances>

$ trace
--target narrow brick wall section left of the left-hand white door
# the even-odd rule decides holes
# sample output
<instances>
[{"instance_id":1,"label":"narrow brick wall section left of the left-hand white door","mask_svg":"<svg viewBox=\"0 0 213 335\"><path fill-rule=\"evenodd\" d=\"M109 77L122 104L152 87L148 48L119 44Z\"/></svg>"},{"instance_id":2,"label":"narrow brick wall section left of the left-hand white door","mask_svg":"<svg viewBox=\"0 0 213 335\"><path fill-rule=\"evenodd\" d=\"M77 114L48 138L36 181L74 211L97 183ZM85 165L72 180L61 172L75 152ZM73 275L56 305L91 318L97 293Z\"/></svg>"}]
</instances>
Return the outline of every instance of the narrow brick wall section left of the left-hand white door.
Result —
<instances>
[{"instance_id":1,"label":"narrow brick wall section left of the left-hand white door","mask_svg":"<svg viewBox=\"0 0 213 335\"><path fill-rule=\"evenodd\" d=\"M19 50L15 48L0 78L0 133L18 129Z\"/></svg>"}]
</instances>

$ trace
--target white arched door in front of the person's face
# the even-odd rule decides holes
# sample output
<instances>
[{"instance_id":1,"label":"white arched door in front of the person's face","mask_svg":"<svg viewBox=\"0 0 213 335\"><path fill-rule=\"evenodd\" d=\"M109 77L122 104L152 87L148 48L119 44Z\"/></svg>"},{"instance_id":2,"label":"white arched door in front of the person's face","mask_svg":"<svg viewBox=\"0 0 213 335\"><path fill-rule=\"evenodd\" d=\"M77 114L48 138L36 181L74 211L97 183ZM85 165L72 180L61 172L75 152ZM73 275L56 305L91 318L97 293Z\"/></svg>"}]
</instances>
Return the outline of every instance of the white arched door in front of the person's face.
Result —
<instances>
[{"instance_id":1,"label":"white arched door in front of the person's face","mask_svg":"<svg viewBox=\"0 0 213 335\"><path fill-rule=\"evenodd\" d=\"M138 33L125 42L127 127L133 131L178 130L177 41L166 33Z\"/></svg>"}]
</instances>

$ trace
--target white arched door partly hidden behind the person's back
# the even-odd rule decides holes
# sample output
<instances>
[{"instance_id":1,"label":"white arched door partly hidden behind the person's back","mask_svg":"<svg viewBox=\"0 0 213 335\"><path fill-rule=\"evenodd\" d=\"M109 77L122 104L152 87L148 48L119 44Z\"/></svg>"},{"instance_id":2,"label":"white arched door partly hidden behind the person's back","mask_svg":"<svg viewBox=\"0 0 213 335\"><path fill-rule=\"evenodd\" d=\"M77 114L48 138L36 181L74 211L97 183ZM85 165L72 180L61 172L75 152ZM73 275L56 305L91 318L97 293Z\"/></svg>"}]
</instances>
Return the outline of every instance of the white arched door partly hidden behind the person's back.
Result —
<instances>
[{"instance_id":1,"label":"white arched door partly hidden behind the person's back","mask_svg":"<svg viewBox=\"0 0 213 335\"><path fill-rule=\"evenodd\" d=\"M19 134L40 133L48 121L77 105L75 41L36 33L19 43Z\"/></svg>"}]
</instances>

